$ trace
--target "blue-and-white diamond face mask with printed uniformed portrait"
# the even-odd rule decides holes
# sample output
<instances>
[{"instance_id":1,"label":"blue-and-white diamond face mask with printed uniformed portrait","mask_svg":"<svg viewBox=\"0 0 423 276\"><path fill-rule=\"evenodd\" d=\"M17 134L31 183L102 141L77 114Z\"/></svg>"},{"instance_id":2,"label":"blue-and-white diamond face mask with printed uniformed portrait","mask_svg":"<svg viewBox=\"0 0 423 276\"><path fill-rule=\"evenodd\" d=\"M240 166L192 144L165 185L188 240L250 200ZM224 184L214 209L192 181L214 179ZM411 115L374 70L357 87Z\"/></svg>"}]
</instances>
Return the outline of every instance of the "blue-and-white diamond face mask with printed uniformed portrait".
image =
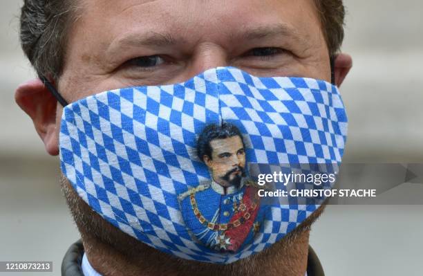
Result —
<instances>
[{"instance_id":1,"label":"blue-and-white diamond face mask with printed uniformed portrait","mask_svg":"<svg viewBox=\"0 0 423 276\"><path fill-rule=\"evenodd\" d=\"M248 164L339 164L346 131L336 86L221 67L67 105L60 160L79 196L113 226L177 257L228 264L319 208L264 204Z\"/></svg>"}]
</instances>

